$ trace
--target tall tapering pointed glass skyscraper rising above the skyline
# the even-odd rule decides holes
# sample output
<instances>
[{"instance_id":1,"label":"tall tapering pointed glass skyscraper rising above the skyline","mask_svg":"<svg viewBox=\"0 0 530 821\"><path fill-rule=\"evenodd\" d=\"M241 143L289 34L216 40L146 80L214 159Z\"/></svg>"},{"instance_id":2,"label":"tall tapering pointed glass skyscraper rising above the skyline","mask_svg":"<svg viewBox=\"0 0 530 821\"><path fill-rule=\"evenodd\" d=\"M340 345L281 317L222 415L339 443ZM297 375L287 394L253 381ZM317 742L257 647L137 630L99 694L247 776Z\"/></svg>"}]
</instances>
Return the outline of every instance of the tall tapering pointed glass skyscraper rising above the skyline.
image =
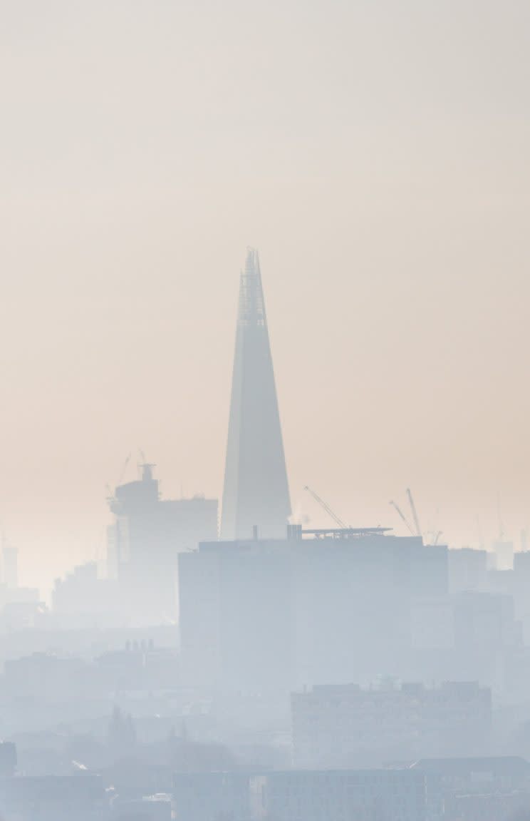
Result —
<instances>
[{"instance_id":1,"label":"tall tapering pointed glass skyscraper rising above the skyline","mask_svg":"<svg viewBox=\"0 0 530 821\"><path fill-rule=\"evenodd\" d=\"M222 539L283 538L290 516L286 458L272 369L258 251L249 249L240 279Z\"/></svg>"}]
</instances>

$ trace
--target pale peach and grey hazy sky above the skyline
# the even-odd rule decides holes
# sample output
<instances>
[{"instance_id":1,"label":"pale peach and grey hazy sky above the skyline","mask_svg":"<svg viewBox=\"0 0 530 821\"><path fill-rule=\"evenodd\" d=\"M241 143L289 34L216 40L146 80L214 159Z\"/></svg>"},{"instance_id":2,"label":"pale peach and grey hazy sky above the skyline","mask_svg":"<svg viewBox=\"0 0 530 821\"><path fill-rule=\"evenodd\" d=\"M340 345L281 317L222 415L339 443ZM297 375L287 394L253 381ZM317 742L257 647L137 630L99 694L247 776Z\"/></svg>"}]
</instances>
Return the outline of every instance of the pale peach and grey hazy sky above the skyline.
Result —
<instances>
[{"instance_id":1,"label":"pale peach and grey hazy sky above the skyline","mask_svg":"<svg viewBox=\"0 0 530 821\"><path fill-rule=\"evenodd\" d=\"M0 515L102 554L129 452L220 495L260 252L291 496L530 523L528 0L2 0ZM132 479L131 467L127 477ZM439 512L436 512L439 511ZM398 528L398 532L402 532Z\"/></svg>"}]
</instances>

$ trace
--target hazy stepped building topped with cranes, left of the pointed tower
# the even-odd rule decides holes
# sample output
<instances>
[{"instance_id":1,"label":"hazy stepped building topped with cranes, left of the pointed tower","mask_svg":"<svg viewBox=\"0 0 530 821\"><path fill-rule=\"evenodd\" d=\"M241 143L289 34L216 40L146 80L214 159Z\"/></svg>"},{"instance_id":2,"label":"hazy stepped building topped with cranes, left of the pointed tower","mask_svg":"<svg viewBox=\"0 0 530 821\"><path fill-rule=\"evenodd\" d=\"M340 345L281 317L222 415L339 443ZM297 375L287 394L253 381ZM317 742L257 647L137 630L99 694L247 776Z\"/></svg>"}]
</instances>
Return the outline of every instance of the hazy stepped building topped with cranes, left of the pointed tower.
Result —
<instances>
[{"instance_id":1,"label":"hazy stepped building topped with cranes, left of the pointed tower","mask_svg":"<svg viewBox=\"0 0 530 821\"><path fill-rule=\"evenodd\" d=\"M178 616L178 554L199 541L217 539L217 500L161 499L153 465L116 488L110 499L111 575L123 610L134 623L168 623Z\"/></svg>"}]
</instances>

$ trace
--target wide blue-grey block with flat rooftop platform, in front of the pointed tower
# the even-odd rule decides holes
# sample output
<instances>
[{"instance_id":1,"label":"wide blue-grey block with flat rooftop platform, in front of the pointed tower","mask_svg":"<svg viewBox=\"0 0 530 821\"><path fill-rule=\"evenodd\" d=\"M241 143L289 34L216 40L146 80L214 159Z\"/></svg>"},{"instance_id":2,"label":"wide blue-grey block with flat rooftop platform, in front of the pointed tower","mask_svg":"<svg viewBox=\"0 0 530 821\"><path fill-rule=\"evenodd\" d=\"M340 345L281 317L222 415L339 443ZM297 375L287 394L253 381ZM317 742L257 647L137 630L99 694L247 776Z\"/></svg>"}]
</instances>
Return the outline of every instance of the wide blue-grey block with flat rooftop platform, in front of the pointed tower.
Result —
<instances>
[{"instance_id":1,"label":"wide blue-grey block with flat rooftop platform, in front of the pointed tower","mask_svg":"<svg viewBox=\"0 0 530 821\"><path fill-rule=\"evenodd\" d=\"M413 600L447 594L444 546L377 528L203 543L179 568L190 683L255 693L392 669Z\"/></svg>"}]
</instances>

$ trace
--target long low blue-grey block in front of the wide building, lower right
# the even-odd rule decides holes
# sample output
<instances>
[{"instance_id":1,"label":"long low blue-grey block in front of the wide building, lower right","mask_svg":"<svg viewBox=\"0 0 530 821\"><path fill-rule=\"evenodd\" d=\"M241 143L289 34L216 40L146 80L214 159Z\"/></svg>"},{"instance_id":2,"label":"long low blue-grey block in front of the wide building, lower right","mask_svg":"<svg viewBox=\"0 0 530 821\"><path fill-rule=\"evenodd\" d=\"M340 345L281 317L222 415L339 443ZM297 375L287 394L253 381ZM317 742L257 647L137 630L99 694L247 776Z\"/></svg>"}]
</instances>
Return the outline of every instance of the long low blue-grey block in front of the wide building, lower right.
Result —
<instances>
[{"instance_id":1,"label":"long low blue-grey block in front of the wide building, lower right","mask_svg":"<svg viewBox=\"0 0 530 821\"><path fill-rule=\"evenodd\" d=\"M371 690L316 686L291 696L291 714L296 767L373 766L484 750L491 730L491 690L473 682Z\"/></svg>"}]
</instances>

